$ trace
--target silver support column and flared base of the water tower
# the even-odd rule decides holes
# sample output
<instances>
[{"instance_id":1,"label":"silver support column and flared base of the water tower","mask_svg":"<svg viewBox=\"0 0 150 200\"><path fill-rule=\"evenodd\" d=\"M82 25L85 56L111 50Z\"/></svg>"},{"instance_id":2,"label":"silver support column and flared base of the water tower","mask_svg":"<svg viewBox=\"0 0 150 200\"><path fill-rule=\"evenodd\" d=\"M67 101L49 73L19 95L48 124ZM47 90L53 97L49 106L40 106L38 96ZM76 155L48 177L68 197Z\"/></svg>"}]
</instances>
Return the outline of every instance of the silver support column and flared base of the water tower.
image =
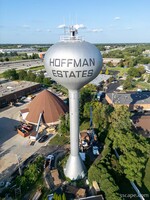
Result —
<instances>
[{"instance_id":1,"label":"silver support column and flared base of the water tower","mask_svg":"<svg viewBox=\"0 0 150 200\"><path fill-rule=\"evenodd\" d=\"M79 91L69 90L70 156L64 169L71 180L85 176L85 166L79 155Z\"/></svg>"}]
</instances>

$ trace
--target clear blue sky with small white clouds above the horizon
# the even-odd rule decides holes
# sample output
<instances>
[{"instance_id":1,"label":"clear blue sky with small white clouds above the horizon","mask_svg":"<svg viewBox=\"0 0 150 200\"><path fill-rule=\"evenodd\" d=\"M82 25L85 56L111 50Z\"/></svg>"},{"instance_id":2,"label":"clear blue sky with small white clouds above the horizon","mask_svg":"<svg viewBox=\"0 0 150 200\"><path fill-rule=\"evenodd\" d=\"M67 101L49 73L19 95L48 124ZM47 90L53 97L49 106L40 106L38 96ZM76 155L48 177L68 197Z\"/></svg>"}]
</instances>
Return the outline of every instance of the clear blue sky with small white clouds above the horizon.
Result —
<instances>
[{"instance_id":1,"label":"clear blue sky with small white clouds above the horizon","mask_svg":"<svg viewBox=\"0 0 150 200\"><path fill-rule=\"evenodd\" d=\"M0 0L0 43L55 43L64 24L92 43L150 42L150 0Z\"/></svg>"}]
</instances>

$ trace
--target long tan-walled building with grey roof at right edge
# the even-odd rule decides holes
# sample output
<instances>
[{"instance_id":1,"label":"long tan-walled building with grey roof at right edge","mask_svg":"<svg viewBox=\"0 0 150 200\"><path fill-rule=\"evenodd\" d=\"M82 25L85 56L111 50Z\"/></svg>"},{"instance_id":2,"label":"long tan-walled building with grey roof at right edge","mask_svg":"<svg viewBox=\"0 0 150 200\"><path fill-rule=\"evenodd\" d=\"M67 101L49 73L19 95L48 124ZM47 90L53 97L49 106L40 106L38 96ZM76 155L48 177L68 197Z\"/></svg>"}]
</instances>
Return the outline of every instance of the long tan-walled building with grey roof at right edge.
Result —
<instances>
[{"instance_id":1,"label":"long tan-walled building with grey roof at right edge","mask_svg":"<svg viewBox=\"0 0 150 200\"><path fill-rule=\"evenodd\" d=\"M126 105L130 111L149 111L150 92L107 93L106 101L111 105Z\"/></svg>"}]
</instances>

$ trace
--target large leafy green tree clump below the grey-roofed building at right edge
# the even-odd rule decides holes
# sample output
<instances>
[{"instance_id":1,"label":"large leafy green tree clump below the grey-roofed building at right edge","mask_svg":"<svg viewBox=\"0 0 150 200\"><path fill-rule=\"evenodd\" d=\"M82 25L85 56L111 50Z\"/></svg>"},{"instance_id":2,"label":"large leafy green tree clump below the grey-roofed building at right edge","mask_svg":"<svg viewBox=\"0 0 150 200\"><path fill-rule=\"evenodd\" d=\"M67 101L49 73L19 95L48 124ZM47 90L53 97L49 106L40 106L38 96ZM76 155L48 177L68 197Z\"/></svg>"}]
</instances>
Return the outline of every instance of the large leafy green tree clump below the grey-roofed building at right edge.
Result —
<instances>
[{"instance_id":1,"label":"large leafy green tree clump below the grey-roofed building at right edge","mask_svg":"<svg viewBox=\"0 0 150 200\"><path fill-rule=\"evenodd\" d=\"M130 113L126 106L115 107L110 116L109 138L113 149L118 149L119 163L130 181L141 186L142 174L150 146L143 136L132 130Z\"/></svg>"}]
</instances>

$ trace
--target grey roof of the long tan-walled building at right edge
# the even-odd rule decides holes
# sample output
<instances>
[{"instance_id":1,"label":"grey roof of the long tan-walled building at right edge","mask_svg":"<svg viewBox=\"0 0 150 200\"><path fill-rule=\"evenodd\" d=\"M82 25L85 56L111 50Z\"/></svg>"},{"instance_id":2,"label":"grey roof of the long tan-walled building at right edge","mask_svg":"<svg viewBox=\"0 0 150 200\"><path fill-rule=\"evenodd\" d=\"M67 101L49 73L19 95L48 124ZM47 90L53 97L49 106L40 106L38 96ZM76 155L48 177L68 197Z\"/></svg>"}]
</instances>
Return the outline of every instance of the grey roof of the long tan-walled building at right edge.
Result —
<instances>
[{"instance_id":1,"label":"grey roof of the long tan-walled building at right edge","mask_svg":"<svg viewBox=\"0 0 150 200\"><path fill-rule=\"evenodd\" d=\"M107 93L114 104L150 104L150 92Z\"/></svg>"}]
</instances>

